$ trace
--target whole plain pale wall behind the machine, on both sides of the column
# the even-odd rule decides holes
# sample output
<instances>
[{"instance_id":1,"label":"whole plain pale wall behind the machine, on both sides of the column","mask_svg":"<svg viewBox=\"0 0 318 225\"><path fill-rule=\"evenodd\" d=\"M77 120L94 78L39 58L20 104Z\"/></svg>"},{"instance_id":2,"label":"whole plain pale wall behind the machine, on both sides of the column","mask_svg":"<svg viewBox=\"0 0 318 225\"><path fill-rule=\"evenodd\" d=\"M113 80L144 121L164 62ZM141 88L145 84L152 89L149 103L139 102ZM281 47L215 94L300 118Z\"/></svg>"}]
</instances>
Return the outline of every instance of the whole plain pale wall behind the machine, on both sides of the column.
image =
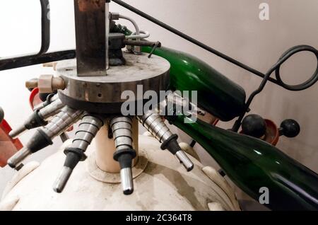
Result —
<instances>
[{"instance_id":1,"label":"whole plain pale wall behind the machine, on both sides of the column","mask_svg":"<svg viewBox=\"0 0 318 225\"><path fill-rule=\"evenodd\" d=\"M50 2L52 21L50 50L75 47L73 0ZM127 0L126 2L264 72L293 45L307 44L318 48L317 0ZM261 2L269 3L269 21L259 20ZM204 59L225 76L240 83L247 93L257 88L261 81L247 71L189 44L117 4L111 4L111 11L119 11L134 17L143 30L151 32L152 40L160 40L167 47L183 50ZM0 57L37 52L40 49L40 4L37 0L0 1L0 28L2 31ZM129 28L132 29L131 25ZM290 83L305 81L316 67L312 59L310 54L299 54L293 58L282 69L285 80ZM35 66L0 72L0 105L5 110L6 120L13 127L20 125L31 113L28 105L29 92L24 88L25 81L45 73L52 71ZM269 83L251 105L252 113L263 115L278 125L285 118L293 118L300 122L301 134L295 139L282 138L278 147L316 172L318 171L317 94L318 84L307 91L293 93ZM222 123L226 128L231 125L231 123ZM21 137L23 143L28 141L30 133ZM52 151L54 148L45 152ZM204 151L200 152L204 154ZM41 154L35 158L44 158L45 153ZM203 158L204 163L211 163L210 159ZM9 173L8 169L5 171L0 171L2 177Z\"/></svg>"}]
</instances>

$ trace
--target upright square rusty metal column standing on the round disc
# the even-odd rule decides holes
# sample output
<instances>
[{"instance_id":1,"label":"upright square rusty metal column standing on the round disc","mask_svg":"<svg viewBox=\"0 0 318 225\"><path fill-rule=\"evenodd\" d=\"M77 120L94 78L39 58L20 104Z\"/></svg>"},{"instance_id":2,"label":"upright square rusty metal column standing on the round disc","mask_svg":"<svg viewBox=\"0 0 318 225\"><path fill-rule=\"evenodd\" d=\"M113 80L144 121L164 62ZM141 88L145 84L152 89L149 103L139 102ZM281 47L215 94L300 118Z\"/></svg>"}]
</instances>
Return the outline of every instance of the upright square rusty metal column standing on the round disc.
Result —
<instances>
[{"instance_id":1,"label":"upright square rusty metal column standing on the round disc","mask_svg":"<svg viewBox=\"0 0 318 225\"><path fill-rule=\"evenodd\" d=\"M78 76L105 76L107 35L105 0L74 0Z\"/></svg>"}]
</instances>

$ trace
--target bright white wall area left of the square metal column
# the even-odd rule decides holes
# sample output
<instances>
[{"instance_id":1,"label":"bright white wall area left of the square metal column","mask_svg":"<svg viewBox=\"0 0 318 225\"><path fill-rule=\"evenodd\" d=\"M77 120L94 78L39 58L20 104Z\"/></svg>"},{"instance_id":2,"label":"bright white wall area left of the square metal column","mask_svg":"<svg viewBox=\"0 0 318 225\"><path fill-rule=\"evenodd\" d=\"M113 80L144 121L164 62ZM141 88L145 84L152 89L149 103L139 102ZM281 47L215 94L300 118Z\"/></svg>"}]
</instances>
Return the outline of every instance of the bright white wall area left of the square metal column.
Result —
<instances>
[{"instance_id":1,"label":"bright white wall area left of the square metal column","mask_svg":"<svg viewBox=\"0 0 318 225\"><path fill-rule=\"evenodd\" d=\"M75 30L73 26L73 1L51 0L51 47L49 51L64 50L75 47ZM28 54L40 50L40 1L17 0L0 1L0 58L18 54ZM0 105L4 108L5 119L11 127L17 127L32 113L28 98L30 92L25 88L25 81L52 74L52 69L41 66L25 67L0 71ZM33 132L20 137L25 144ZM61 145L59 138L54 145L39 151L28 161L42 161L54 153ZM0 168L0 193L14 174L11 168Z\"/></svg>"}]
</instances>

